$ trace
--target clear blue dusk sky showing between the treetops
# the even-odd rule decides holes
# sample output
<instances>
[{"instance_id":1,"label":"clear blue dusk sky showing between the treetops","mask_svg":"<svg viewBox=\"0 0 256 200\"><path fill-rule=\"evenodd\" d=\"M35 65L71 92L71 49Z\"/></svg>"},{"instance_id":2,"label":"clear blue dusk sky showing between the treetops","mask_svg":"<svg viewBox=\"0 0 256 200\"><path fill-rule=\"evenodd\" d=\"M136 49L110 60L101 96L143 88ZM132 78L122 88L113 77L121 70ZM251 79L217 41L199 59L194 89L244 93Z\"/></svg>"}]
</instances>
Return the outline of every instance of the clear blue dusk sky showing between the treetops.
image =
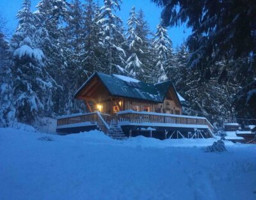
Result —
<instances>
[{"instance_id":1,"label":"clear blue dusk sky showing between the treetops","mask_svg":"<svg viewBox=\"0 0 256 200\"><path fill-rule=\"evenodd\" d=\"M35 5L39 0L31 0L32 10L35 10ZM103 0L99 0L99 3ZM81 0L83 3L84 1ZM7 20L8 34L12 34L17 26L17 20L15 19L17 11L20 9L22 0L0 0L0 12L1 15ZM145 13L145 18L150 24L150 29L155 32L156 25L159 24L161 8L157 7L156 4L151 3L150 0L123 0L121 4L121 10L118 11L118 16L120 16L126 25L127 18L129 17L129 11L132 6L136 7L136 10L140 8ZM173 47L180 45L188 37L191 31L186 28L186 25L181 25L180 27L172 27L169 29L169 36L173 41Z\"/></svg>"}]
</instances>

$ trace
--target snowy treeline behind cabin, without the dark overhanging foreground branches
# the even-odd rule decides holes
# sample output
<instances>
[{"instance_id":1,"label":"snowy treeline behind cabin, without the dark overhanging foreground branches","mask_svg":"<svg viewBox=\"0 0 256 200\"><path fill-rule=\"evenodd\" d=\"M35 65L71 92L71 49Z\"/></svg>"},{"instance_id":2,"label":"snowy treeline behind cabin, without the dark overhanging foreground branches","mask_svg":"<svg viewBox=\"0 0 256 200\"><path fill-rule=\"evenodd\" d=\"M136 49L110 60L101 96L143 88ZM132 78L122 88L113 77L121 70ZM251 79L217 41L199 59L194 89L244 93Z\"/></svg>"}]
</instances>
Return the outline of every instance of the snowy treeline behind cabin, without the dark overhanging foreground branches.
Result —
<instances>
[{"instance_id":1,"label":"snowy treeline behind cabin, without the dark overhanging foreground branches","mask_svg":"<svg viewBox=\"0 0 256 200\"><path fill-rule=\"evenodd\" d=\"M206 115L212 122L255 117L248 106L255 101L253 94L237 98L255 78L248 57L225 57L202 72L194 66L189 43L173 49L164 23L152 33L143 11L133 7L125 29L116 15L121 1L103 3L41 0L31 12L30 0L24 0L10 40L1 20L1 126L84 111L73 94L95 71L152 83L172 80L189 103L188 113Z\"/></svg>"}]
</instances>

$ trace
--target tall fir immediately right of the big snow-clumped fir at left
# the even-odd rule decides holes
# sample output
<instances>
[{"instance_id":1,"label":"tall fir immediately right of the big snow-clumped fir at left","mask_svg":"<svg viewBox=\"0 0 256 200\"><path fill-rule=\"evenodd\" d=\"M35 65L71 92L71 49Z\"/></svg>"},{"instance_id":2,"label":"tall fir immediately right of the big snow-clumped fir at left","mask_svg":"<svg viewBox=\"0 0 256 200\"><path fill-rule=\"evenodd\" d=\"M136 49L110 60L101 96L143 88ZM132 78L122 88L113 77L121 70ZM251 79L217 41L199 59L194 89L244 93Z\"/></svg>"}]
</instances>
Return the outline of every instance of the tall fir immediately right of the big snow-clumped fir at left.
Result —
<instances>
[{"instance_id":1,"label":"tall fir immediately right of the big snow-clumped fir at left","mask_svg":"<svg viewBox=\"0 0 256 200\"><path fill-rule=\"evenodd\" d=\"M67 32L65 25L67 24L67 2L65 0L41 0L35 11L36 28L38 29L36 36L40 48L45 54L45 63L47 71L56 81L58 87L54 92L54 112L65 113L65 103L68 96L68 48L67 48Z\"/></svg>"}]
</instances>

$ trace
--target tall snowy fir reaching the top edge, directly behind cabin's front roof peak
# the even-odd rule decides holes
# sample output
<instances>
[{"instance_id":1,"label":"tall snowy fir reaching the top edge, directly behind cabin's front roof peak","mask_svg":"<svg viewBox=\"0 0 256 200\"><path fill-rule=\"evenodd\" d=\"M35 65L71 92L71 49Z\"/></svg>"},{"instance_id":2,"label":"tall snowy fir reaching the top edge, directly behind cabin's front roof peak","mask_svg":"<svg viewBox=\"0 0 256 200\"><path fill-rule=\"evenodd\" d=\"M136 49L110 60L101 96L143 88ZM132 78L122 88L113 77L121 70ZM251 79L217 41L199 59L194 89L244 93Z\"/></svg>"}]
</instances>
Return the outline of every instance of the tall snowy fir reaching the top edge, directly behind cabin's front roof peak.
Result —
<instances>
[{"instance_id":1,"label":"tall snowy fir reaching the top edge, directly behind cabin's front roof peak","mask_svg":"<svg viewBox=\"0 0 256 200\"><path fill-rule=\"evenodd\" d=\"M126 56L123 48L124 29L121 18L115 15L115 11L120 10L120 3L121 0L104 0L97 22L102 31L102 48L106 59L106 69L102 66L102 71L109 74L124 73Z\"/></svg>"}]
</instances>

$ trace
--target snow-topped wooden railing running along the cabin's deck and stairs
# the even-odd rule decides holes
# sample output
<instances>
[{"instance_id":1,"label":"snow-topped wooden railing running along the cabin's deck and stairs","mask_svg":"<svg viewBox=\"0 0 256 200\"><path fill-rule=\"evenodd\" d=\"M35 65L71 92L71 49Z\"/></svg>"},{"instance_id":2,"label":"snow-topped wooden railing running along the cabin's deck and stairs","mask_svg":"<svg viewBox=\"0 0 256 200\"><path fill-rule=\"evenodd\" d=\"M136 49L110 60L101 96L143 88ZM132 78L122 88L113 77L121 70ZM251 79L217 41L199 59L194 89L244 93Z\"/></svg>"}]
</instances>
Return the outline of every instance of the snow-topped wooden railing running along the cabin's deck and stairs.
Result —
<instances>
[{"instance_id":1,"label":"snow-topped wooden railing running along the cabin's deck and stairs","mask_svg":"<svg viewBox=\"0 0 256 200\"><path fill-rule=\"evenodd\" d=\"M207 125L213 132L214 127L205 117L192 117L186 115L172 115L164 113L139 112L133 110L120 111L115 116L103 114L99 112L84 113L71 116L59 117L57 125L79 124L83 122L91 122L97 124L102 131L107 131L109 125L118 124L118 122L131 122L134 124L142 123L168 123L168 124L194 124Z\"/></svg>"}]
</instances>

